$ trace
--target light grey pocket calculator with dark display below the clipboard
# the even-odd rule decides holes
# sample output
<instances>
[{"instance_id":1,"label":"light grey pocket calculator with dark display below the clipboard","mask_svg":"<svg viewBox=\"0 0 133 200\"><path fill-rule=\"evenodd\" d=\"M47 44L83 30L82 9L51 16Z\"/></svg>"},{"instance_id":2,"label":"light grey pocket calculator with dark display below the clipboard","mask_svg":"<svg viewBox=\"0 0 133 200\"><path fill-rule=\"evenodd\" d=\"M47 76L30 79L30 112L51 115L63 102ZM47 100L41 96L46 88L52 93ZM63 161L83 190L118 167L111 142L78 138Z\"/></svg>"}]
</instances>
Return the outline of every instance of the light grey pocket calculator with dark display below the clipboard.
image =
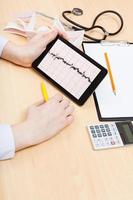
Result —
<instances>
[{"instance_id":1,"label":"light grey pocket calculator with dark display below the clipboard","mask_svg":"<svg viewBox=\"0 0 133 200\"><path fill-rule=\"evenodd\" d=\"M87 129L95 150L133 144L131 121L90 124Z\"/></svg>"}]
</instances>

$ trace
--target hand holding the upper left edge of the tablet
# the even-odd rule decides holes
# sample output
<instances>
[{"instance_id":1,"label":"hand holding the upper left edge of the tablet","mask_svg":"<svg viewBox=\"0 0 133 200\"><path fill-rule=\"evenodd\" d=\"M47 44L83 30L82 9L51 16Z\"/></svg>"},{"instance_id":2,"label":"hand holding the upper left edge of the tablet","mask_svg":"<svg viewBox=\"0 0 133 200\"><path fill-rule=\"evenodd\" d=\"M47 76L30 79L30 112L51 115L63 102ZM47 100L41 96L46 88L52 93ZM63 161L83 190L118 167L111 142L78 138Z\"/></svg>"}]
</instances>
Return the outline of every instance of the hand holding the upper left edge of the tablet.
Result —
<instances>
[{"instance_id":1,"label":"hand holding the upper left edge of the tablet","mask_svg":"<svg viewBox=\"0 0 133 200\"><path fill-rule=\"evenodd\" d=\"M53 29L49 32L39 32L25 45L8 42L3 49L2 58L23 67L31 67L33 61L45 50L46 46L56 38L57 34L66 35Z\"/></svg>"}]
</instances>

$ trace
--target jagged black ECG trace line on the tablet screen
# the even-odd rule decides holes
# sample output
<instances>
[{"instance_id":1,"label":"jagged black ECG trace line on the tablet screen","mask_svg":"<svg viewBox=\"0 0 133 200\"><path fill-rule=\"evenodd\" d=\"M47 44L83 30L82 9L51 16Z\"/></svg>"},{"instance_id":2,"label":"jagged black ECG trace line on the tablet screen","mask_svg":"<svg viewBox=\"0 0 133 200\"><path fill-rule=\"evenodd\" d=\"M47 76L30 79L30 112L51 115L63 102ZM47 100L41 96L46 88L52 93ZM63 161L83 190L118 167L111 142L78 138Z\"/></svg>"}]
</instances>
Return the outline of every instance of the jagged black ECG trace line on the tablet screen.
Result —
<instances>
[{"instance_id":1,"label":"jagged black ECG trace line on the tablet screen","mask_svg":"<svg viewBox=\"0 0 133 200\"><path fill-rule=\"evenodd\" d=\"M87 81L91 83L90 77L86 76L85 71L84 72L80 71L80 69L78 67L75 67L73 63L71 64L68 63L64 58L62 58L56 53L49 52L49 54L52 56L53 60L56 60L56 59L61 60L65 65L69 66L70 69L76 71L79 75L81 75L81 77L87 79Z\"/></svg>"}]
</instances>

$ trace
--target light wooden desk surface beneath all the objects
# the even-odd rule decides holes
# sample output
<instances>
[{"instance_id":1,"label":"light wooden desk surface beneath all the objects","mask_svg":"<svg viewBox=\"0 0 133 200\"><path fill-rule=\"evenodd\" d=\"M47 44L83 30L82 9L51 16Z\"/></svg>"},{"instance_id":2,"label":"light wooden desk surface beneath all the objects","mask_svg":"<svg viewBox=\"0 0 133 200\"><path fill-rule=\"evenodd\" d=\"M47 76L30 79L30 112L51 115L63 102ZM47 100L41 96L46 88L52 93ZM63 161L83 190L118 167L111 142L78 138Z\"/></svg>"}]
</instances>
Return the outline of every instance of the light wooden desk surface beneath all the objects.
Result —
<instances>
[{"instance_id":1,"label":"light wooden desk surface beneath all the objects","mask_svg":"<svg viewBox=\"0 0 133 200\"><path fill-rule=\"evenodd\" d=\"M57 16L64 9L73 7L84 10L84 16L78 19L88 25L97 13L105 9L119 11L124 17L124 29L113 39L133 41L132 0L128 0L128 3L121 0L1 0L1 34L23 43L21 37L2 31L13 13L41 10ZM32 69L20 68L0 60L2 123L22 121L27 107L42 99L41 79ZM50 96L57 92L47 81L46 85ZM93 97L90 97L84 106L75 105L74 123L56 137L18 152L13 160L0 162L0 199L133 199L133 147L93 151L86 130L86 124L93 121L98 119Z\"/></svg>"}]
</instances>

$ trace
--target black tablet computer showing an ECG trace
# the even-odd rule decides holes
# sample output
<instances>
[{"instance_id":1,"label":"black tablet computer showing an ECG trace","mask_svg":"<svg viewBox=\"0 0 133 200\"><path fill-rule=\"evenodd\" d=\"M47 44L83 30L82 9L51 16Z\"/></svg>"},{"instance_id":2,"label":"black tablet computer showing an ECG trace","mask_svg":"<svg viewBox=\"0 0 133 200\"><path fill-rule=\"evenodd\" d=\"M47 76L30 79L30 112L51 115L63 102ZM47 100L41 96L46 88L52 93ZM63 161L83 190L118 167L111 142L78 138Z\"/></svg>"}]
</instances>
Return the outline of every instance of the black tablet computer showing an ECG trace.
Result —
<instances>
[{"instance_id":1,"label":"black tablet computer showing an ECG trace","mask_svg":"<svg viewBox=\"0 0 133 200\"><path fill-rule=\"evenodd\" d=\"M107 70L64 38L57 36L32 67L78 105L83 105Z\"/></svg>"}]
</instances>

